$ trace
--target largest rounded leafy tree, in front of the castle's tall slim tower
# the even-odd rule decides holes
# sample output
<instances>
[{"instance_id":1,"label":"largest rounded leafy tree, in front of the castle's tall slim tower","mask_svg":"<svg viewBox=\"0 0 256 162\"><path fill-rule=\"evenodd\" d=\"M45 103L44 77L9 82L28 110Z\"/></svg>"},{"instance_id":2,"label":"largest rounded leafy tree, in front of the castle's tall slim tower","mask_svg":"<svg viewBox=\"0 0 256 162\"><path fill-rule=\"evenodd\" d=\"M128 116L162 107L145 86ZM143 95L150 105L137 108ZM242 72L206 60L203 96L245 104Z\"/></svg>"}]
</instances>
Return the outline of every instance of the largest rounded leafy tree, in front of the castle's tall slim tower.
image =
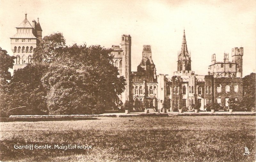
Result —
<instances>
[{"instance_id":1,"label":"largest rounded leafy tree, in front of the castle's tall slim tower","mask_svg":"<svg viewBox=\"0 0 256 162\"><path fill-rule=\"evenodd\" d=\"M51 114L95 114L124 90L125 79L110 62L110 51L100 46L74 44L52 62L42 78Z\"/></svg>"}]
</instances>

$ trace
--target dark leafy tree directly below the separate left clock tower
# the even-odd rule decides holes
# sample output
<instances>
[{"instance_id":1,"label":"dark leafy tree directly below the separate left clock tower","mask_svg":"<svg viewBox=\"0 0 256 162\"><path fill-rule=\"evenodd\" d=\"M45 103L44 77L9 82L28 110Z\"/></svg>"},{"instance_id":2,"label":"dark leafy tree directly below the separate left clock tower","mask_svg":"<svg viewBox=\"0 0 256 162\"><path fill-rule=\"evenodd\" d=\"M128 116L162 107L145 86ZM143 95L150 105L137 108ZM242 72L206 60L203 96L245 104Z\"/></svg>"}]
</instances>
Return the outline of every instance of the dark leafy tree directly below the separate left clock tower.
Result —
<instances>
[{"instance_id":1,"label":"dark leafy tree directly below the separate left clock tower","mask_svg":"<svg viewBox=\"0 0 256 162\"><path fill-rule=\"evenodd\" d=\"M28 64L14 71L8 87L8 100L5 112L8 115L45 114L46 90L41 78L48 68L47 64Z\"/></svg>"}]
</instances>

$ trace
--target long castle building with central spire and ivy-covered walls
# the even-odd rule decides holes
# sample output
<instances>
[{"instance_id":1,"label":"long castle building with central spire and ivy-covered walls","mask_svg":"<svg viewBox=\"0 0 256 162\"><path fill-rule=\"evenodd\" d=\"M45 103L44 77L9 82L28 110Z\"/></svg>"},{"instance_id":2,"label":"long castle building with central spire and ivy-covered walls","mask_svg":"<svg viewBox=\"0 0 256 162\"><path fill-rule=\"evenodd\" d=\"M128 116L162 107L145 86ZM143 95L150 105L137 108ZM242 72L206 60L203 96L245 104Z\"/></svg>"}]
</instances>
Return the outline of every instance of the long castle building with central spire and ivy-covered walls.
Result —
<instances>
[{"instance_id":1,"label":"long castle building with central spire and ivy-covered walls","mask_svg":"<svg viewBox=\"0 0 256 162\"><path fill-rule=\"evenodd\" d=\"M191 68L191 53L188 52L185 30L178 52L177 71L171 78L167 75L156 75L156 66L152 59L151 45L143 45L142 59L137 66L137 72L131 72L131 36L122 35L122 47L112 45L113 64L120 75L126 79L125 91L118 96L124 103L130 100L134 109L141 111L145 103L149 110L159 111L163 103L170 103L172 112L186 107L192 111L192 105L200 103L200 110L211 102L217 102L222 107L228 106L228 99L243 96L243 48L232 49L232 62L224 53L223 62L216 62L215 54L209 66L208 75L196 75ZM145 106L144 106L145 107Z\"/></svg>"}]
</instances>

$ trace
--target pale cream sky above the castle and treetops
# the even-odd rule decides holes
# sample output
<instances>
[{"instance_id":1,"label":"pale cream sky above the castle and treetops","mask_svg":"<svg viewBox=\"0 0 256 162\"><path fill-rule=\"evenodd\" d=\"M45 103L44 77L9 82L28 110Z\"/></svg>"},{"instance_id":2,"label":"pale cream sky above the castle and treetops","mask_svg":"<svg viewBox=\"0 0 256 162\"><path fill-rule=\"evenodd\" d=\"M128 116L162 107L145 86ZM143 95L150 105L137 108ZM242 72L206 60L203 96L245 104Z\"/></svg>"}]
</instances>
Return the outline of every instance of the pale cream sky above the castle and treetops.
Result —
<instances>
[{"instance_id":1,"label":"pale cream sky above the castle and treetops","mask_svg":"<svg viewBox=\"0 0 256 162\"><path fill-rule=\"evenodd\" d=\"M211 55L244 47L243 76L256 69L256 1L174 0L0 0L0 47L12 55L10 37L28 13L43 36L62 32L67 45L99 44L106 48L132 36L132 71L137 71L144 44L151 45L157 74L177 71L177 52L185 28L192 71L207 75Z\"/></svg>"}]
</instances>

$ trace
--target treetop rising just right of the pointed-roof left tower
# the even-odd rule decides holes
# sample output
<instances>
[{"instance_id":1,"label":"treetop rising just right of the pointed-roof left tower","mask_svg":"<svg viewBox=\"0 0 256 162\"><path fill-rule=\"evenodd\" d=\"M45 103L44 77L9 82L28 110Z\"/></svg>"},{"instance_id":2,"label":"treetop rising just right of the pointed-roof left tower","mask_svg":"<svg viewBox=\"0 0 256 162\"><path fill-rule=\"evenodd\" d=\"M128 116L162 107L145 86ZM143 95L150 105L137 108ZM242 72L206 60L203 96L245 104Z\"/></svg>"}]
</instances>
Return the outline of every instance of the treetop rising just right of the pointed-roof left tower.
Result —
<instances>
[{"instance_id":1,"label":"treetop rising just right of the pointed-roof left tower","mask_svg":"<svg viewBox=\"0 0 256 162\"><path fill-rule=\"evenodd\" d=\"M51 63L61 57L65 48L66 40L62 33L53 33L44 36L34 51L33 61Z\"/></svg>"}]
</instances>

